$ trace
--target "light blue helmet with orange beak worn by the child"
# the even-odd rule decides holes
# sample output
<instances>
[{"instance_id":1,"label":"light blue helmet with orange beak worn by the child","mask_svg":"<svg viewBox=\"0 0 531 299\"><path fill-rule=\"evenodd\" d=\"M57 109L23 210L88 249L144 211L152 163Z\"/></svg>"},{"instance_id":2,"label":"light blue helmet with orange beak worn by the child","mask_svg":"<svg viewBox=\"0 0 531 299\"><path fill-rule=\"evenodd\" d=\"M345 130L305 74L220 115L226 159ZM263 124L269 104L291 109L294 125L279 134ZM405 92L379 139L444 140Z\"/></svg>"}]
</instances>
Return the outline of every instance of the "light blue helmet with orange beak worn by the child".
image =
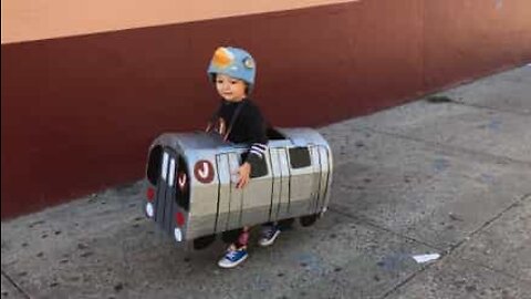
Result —
<instances>
[{"instance_id":1,"label":"light blue helmet with orange beak worn by the child","mask_svg":"<svg viewBox=\"0 0 531 299\"><path fill-rule=\"evenodd\" d=\"M249 85L249 92L251 92L254 86L257 64L246 50L220 47L214 52L207 73L212 80L216 74L226 74L242 80Z\"/></svg>"}]
</instances>

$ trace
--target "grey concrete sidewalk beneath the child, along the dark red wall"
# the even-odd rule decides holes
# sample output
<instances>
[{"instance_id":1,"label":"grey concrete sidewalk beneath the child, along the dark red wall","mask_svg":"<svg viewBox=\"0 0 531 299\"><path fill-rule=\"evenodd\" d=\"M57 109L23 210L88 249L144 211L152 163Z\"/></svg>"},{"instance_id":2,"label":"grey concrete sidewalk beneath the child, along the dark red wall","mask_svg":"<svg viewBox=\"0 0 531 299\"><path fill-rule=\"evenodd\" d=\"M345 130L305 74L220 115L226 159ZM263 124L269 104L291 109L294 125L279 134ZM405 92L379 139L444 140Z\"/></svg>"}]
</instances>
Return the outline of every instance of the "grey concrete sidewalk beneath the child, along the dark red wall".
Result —
<instances>
[{"instance_id":1,"label":"grey concrete sidewalk beneath the child, along the dark red wall","mask_svg":"<svg viewBox=\"0 0 531 299\"><path fill-rule=\"evenodd\" d=\"M139 182L2 223L2 299L531 298L531 66L438 95L320 128L329 212L241 267L176 247Z\"/></svg>"}]
</instances>

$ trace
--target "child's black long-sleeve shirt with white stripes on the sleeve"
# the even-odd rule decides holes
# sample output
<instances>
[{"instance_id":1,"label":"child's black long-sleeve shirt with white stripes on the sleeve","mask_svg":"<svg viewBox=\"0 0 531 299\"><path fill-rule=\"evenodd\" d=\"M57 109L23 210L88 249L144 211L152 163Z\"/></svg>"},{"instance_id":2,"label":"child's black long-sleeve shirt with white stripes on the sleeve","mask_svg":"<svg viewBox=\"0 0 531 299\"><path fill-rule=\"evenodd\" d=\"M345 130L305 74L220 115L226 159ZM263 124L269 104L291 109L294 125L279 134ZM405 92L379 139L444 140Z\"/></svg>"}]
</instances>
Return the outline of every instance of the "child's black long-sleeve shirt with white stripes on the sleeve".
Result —
<instances>
[{"instance_id":1,"label":"child's black long-sleeve shirt with white stripes on the sleeve","mask_svg":"<svg viewBox=\"0 0 531 299\"><path fill-rule=\"evenodd\" d=\"M268 148L267 124L260 109L251 100L222 101L215 118L219 133L228 133L228 141L249 145L246 162L251 164L251 168L263 159Z\"/></svg>"}]
</instances>

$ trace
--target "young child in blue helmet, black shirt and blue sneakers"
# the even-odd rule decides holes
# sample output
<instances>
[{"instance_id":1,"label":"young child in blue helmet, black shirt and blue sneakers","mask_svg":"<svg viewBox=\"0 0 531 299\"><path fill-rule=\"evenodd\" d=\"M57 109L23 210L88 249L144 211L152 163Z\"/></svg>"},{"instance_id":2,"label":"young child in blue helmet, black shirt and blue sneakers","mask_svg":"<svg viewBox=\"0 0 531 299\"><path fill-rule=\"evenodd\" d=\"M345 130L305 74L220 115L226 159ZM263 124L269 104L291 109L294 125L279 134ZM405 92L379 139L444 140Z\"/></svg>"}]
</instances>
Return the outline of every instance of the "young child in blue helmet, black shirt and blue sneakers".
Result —
<instances>
[{"instance_id":1,"label":"young child in blue helmet, black shirt and blue sneakers","mask_svg":"<svg viewBox=\"0 0 531 299\"><path fill-rule=\"evenodd\" d=\"M207 131L216 128L227 141L244 143L249 151L238 169L238 188L250 181L251 169L264 158L268 148L266 122L260 110L249 100L254 86L257 66L244 50L221 47L216 50L208 68L208 75L221 96L221 105L212 116ZM231 244L219 260L221 268L232 268L247 259L250 227L243 227L238 240ZM270 246L279 236L277 224L262 225L260 246Z\"/></svg>"}]
</instances>

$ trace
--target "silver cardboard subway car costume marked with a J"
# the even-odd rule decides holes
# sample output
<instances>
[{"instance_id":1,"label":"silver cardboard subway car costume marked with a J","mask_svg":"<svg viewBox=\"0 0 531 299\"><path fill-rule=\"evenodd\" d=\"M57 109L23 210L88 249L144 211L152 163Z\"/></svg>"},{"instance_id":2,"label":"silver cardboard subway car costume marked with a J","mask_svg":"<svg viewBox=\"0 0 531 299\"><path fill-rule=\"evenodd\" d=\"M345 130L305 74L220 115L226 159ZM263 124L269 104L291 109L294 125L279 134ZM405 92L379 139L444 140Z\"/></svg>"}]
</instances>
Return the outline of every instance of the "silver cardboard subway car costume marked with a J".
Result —
<instances>
[{"instance_id":1,"label":"silver cardboard subway car costume marked with a J","mask_svg":"<svg viewBox=\"0 0 531 299\"><path fill-rule=\"evenodd\" d=\"M311 128L270 128L263 164L237 188L246 144L217 133L166 133L149 147L145 214L177 243L195 248L243 226L300 218L313 224L327 207L332 151Z\"/></svg>"}]
</instances>

